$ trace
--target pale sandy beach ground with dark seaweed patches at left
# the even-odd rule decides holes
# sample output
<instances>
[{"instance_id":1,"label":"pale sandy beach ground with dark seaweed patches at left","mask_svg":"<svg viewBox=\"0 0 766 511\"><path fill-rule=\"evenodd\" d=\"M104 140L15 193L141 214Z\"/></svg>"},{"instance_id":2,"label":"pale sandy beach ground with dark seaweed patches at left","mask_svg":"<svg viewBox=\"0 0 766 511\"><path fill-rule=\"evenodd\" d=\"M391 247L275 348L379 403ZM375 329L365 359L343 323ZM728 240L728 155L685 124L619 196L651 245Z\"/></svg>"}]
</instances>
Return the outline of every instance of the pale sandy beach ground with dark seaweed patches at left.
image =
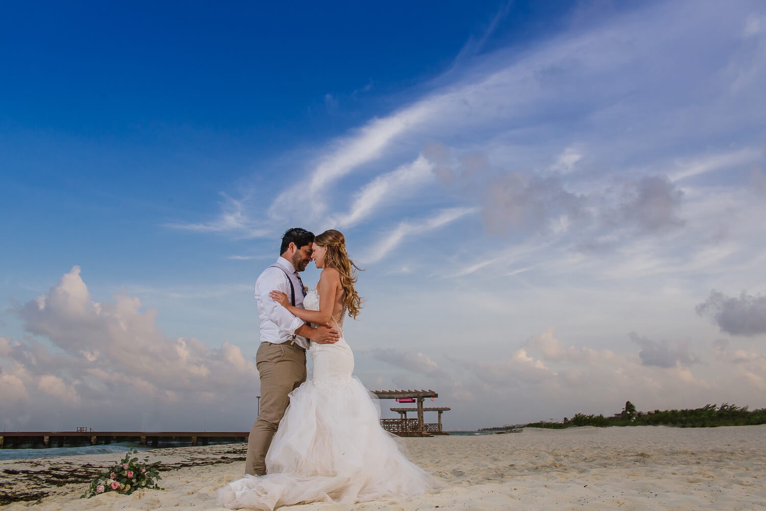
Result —
<instances>
[{"instance_id":1,"label":"pale sandy beach ground with dark seaweed patches at left","mask_svg":"<svg viewBox=\"0 0 766 511\"><path fill-rule=\"evenodd\" d=\"M313 503L290 509L766 509L766 425L526 429L412 438L407 446L415 463L444 481L443 490L413 500ZM147 454L170 469L162 473L165 490L105 493L84 500L78 497L87 483L46 487L44 482L67 477L87 481L88 470L110 465L119 455L0 462L0 493L26 493L27 498L48 493L39 500L10 503L3 511L219 509L215 490L244 470L243 445Z\"/></svg>"}]
</instances>

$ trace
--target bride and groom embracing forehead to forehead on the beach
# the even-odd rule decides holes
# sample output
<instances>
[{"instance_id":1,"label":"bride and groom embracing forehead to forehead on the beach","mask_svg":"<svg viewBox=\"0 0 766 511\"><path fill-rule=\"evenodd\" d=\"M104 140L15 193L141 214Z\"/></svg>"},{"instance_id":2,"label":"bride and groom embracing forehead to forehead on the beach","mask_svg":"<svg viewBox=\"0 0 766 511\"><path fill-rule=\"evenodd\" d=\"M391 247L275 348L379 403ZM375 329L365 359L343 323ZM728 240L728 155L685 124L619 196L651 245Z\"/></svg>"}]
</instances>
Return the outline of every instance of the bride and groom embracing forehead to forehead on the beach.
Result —
<instances>
[{"instance_id":1,"label":"bride and groom embracing forehead to forehead on the beach","mask_svg":"<svg viewBox=\"0 0 766 511\"><path fill-rule=\"evenodd\" d=\"M311 291L300 272L322 269ZM244 479L218 490L218 504L267 509L298 503L357 503L425 493L436 480L402 454L379 422L370 393L352 376L343 336L361 298L345 238L285 232L277 262L255 284L260 318L260 413L250 431ZM306 381L306 350L313 378Z\"/></svg>"}]
</instances>

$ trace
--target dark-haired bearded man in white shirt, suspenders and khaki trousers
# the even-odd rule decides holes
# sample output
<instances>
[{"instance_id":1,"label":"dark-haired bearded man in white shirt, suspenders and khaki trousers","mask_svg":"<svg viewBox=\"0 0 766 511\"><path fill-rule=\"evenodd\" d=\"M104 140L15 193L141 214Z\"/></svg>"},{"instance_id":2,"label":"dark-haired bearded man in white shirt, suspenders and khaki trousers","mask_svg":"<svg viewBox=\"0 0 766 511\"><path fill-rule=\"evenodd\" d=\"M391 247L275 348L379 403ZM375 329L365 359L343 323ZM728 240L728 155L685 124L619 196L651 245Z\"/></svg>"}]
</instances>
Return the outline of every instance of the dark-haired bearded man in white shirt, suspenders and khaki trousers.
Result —
<instances>
[{"instance_id":1,"label":"dark-haired bearded man in white shirt, suspenders and khaki trousers","mask_svg":"<svg viewBox=\"0 0 766 511\"><path fill-rule=\"evenodd\" d=\"M280 290L290 303L303 308L306 287L298 272L311 262L314 234L302 228L285 231L277 262L255 281L255 300L260 319L260 346L255 362L260 374L260 410L247 441L245 473L266 474L266 453L290 402L288 394L306 381L306 349L313 342L331 344L340 332L329 326L316 329L290 314L271 299Z\"/></svg>"}]
</instances>

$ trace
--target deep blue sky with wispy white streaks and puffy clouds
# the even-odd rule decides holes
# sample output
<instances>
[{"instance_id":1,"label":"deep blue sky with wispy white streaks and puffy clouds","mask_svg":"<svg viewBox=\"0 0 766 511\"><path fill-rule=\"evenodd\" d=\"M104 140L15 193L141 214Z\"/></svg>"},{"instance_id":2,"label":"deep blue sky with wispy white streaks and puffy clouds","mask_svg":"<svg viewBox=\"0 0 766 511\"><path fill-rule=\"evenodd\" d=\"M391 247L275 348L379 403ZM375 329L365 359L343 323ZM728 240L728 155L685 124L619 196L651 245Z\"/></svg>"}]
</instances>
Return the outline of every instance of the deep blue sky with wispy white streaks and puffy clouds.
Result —
<instances>
[{"instance_id":1,"label":"deep blue sky with wispy white streaks and puffy clouds","mask_svg":"<svg viewBox=\"0 0 766 511\"><path fill-rule=\"evenodd\" d=\"M295 225L365 267L362 382L447 427L766 406L761 2L0 23L5 429L247 430Z\"/></svg>"}]
</instances>

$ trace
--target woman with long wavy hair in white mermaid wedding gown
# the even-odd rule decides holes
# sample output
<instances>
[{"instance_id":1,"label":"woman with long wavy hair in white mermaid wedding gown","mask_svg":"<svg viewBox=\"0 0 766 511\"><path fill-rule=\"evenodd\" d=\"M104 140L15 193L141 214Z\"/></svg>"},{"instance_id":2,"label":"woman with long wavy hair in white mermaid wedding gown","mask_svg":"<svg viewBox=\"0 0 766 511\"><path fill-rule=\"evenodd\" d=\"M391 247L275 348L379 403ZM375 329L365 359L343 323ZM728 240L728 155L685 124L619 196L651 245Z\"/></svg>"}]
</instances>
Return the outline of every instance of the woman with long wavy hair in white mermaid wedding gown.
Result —
<instances>
[{"instance_id":1,"label":"woman with long wavy hair in white mermaid wedding gown","mask_svg":"<svg viewBox=\"0 0 766 511\"><path fill-rule=\"evenodd\" d=\"M335 344L311 343L313 378L290 394L290 406L266 456L267 475L246 476L218 490L218 505L264 509L298 503L358 503L425 493L437 480L412 464L379 422L378 406L355 376L354 355L343 337L343 318L356 318L362 299L356 268L339 231L319 234L313 259L322 274L306 295L305 310L287 296L272 298L290 313L341 332Z\"/></svg>"}]
</instances>

